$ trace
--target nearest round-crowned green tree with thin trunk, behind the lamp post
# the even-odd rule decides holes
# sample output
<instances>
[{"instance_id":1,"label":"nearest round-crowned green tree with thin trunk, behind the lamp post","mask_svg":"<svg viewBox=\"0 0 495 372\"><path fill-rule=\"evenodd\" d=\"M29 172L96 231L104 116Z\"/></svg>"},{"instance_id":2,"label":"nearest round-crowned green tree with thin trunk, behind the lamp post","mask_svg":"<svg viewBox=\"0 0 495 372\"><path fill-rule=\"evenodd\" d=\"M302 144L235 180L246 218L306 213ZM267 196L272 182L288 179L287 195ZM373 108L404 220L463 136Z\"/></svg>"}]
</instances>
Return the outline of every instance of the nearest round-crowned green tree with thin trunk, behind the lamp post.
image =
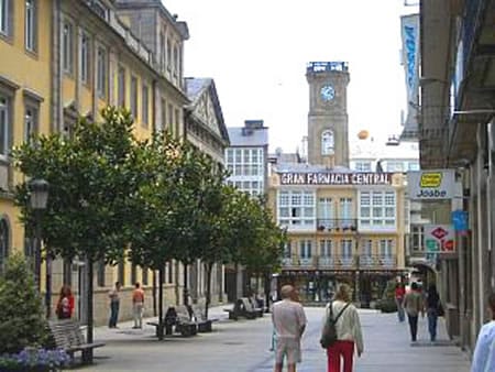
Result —
<instances>
[{"instance_id":1,"label":"nearest round-crowned green tree with thin trunk, behind the lamp post","mask_svg":"<svg viewBox=\"0 0 495 372\"><path fill-rule=\"evenodd\" d=\"M136 167L131 114L112 107L101 113L101 123L80 120L72 138L40 135L13 150L14 164L24 175L51 185L42 218L47 254L86 260L88 342L92 342L94 263L123 256L134 232L130 196L143 177ZM28 197L28 184L18 185L22 220L32 226Z\"/></svg>"}]
</instances>

